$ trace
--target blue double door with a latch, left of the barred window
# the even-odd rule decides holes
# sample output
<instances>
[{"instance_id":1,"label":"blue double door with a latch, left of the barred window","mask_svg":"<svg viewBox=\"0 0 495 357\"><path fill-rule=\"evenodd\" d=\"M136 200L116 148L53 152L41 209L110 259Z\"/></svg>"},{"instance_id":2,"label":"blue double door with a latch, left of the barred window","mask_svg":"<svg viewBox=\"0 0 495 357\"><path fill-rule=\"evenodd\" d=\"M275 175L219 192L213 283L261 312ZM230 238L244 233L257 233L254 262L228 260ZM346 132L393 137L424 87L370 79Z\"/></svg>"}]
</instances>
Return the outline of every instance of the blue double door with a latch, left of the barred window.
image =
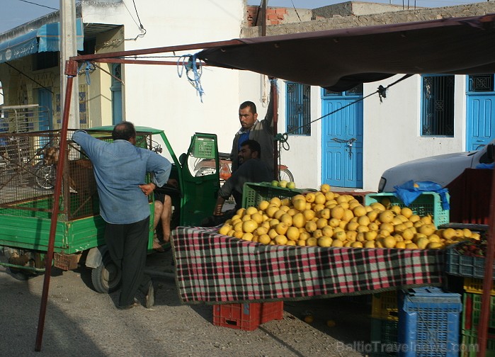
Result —
<instances>
[{"instance_id":1,"label":"blue double door with a latch, left of the barred window","mask_svg":"<svg viewBox=\"0 0 495 357\"><path fill-rule=\"evenodd\" d=\"M332 114L322 119L322 183L363 188L363 101L347 106L360 98L362 85L341 93L323 90L322 116Z\"/></svg>"}]
</instances>

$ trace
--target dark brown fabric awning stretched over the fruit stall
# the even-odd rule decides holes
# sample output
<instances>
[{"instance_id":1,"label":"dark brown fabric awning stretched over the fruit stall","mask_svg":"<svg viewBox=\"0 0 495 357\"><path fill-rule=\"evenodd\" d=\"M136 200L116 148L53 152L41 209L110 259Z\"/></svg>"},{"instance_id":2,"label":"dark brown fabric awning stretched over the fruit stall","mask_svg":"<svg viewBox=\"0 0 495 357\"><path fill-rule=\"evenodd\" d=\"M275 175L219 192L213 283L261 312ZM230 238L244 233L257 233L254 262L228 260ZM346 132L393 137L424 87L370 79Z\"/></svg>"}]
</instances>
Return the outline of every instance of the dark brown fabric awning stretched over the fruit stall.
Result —
<instances>
[{"instance_id":1,"label":"dark brown fabric awning stretched over the fruit stall","mask_svg":"<svg viewBox=\"0 0 495 357\"><path fill-rule=\"evenodd\" d=\"M346 91L394 74L495 72L495 14L242 38L198 52L206 64Z\"/></svg>"}]
</instances>

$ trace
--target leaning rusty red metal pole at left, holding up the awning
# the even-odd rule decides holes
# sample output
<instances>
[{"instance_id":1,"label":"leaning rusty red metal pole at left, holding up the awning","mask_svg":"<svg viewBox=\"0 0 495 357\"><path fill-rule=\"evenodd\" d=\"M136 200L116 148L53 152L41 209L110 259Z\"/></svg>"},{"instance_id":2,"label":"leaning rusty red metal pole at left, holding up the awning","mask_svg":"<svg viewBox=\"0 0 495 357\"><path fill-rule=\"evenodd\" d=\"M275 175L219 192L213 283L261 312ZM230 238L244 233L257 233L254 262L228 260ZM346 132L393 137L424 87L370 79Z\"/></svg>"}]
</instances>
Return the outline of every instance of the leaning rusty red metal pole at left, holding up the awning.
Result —
<instances>
[{"instance_id":1,"label":"leaning rusty red metal pole at left, holding up the awning","mask_svg":"<svg viewBox=\"0 0 495 357\"><path fill-rule=\"evenodd\" d=\"M69 108L72 96L72 81L77 76L77 63L67 62L67 88L62 117L62 132L60 132L59 157L65 157L67 151L67 124L69 123ZM43 329L45 327L45 314L47 310L48 289L50 288L50 275L52 273L53 246L55 244L55 231L57 229L57 218L59 215L60 191L62 188L62 173L64 172L64 161L59 160L57 164L57 176L55 177L55 188L53 195L52 218L50 220L50 236L48 238L48 251L45 256L45 277L43 280L43 291L41 295L40 317L38 318L38 333L36 334L35 351L41 351Z\"/></svg>"}]
</instances>

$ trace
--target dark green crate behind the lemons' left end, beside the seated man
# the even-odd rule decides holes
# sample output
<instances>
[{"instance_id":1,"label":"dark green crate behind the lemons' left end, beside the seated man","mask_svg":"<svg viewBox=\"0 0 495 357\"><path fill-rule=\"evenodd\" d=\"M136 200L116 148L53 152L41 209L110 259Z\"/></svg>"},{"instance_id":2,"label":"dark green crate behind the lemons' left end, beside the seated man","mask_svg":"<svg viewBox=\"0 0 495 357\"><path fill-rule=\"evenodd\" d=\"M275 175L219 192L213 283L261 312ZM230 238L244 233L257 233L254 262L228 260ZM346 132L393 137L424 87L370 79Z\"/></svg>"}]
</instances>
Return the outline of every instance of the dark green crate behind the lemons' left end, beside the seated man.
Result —
<instances>
[{"instance_id":1,"label":"dark green crate behind the lemons' left end, beside the seated man","mask_svg":"<svg viewBox=\"0 0 495 357\"><path fill-rule=\"evenodd\" d=\"M248 208L251 206L257 206L262 200L271 200L271 198L278 197L291 198L299 195L300 193L315 191L309 188L283 188L272 186L269 182L262 183L244 183L242 188L242 207Z\"/></svg>"}]
</instances>

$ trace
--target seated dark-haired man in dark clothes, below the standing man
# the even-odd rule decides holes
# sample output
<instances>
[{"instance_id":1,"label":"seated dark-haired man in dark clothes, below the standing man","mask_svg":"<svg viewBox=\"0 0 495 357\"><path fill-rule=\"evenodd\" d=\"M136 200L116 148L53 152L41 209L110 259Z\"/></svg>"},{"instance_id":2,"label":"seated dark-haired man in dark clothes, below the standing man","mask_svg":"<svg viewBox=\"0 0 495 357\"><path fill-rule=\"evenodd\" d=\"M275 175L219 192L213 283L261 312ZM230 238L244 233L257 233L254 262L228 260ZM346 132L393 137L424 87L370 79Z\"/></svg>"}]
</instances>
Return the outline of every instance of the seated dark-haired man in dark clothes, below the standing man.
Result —
<instances>
[{"instance_id":1,"label":"seated dark-haired man in dark clothes, below the standing man","mask_svg":"<svg viewBox=\"0 0 495 357\"><path fill-rule=\"evenodd\" d=\"M222 215L224 202L230 195L236 201L236 210L242 205L242 188L246 182L269 182L273 176L266 162L261 161L261 147L256 140L246 140L239 151L241 166L232 173L218 191L214 216Z\"/></svg>"}]
</instances>

